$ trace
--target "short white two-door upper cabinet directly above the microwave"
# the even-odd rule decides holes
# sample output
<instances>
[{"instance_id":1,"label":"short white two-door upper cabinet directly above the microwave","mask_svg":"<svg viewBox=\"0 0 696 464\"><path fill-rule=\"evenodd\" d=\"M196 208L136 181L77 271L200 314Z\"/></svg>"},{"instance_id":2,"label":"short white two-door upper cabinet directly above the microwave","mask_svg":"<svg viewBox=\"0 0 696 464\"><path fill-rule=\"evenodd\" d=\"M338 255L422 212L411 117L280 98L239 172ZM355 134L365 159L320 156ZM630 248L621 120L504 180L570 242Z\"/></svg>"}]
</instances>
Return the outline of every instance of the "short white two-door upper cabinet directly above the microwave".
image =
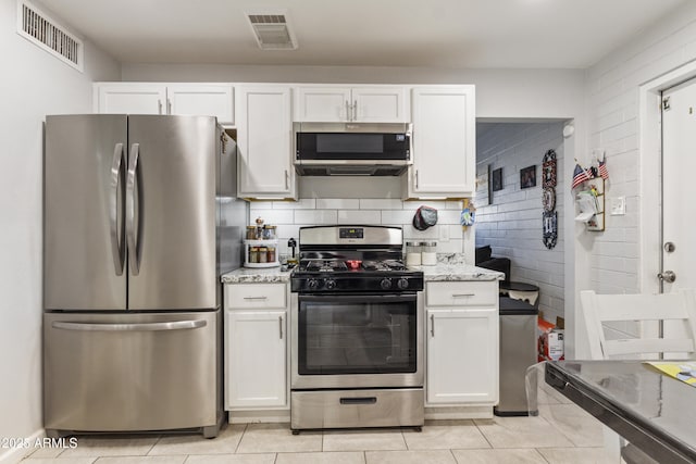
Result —
<instances>
[{"instance_id":1,"label":"short white two-door upper cabinet directly above the microwave","mask_svg":"<svg viewBox=\"0 0 696 464\"><path fill-rule=\"evenodd\" d=\"M298 86L296 122L407 123L407 88L400 86Z\"/></svg>"}]
</instances>

